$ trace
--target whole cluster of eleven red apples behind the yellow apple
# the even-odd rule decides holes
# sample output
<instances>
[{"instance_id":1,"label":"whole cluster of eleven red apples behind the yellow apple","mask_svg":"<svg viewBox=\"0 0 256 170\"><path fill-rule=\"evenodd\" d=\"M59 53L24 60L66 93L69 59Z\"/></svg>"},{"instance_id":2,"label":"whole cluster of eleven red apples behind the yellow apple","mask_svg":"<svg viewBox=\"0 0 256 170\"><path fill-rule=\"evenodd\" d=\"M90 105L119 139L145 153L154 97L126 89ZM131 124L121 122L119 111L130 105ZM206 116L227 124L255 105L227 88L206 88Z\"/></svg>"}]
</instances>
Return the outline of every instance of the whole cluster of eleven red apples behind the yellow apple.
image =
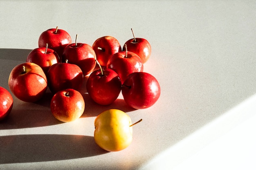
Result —
<instances>
[{"instance_id":1,"label":"whole cluster of eleven red apples behind the yellow apple","mask_svg":"<svg viewBox=\"0 0 256 170\"><path fill-rule=\"evenodd\" d=\"M52 114L63 122L79 118L85 110L79 92L85 76L86 90L94 102L109 105L122 93L128 106L144 109L160 96L157 79L143 72L150 54L151 46L143 38L134 36L121 48L116 38L104 36L90 46L78 43L77 35L72 43L70 35L56 27L41 33L38 48L13 68L8 85L13 95L24 102L38 101L49 88L54 94ZM3 115L0 113L0 117Z\"/></svg>"}]
</instances>

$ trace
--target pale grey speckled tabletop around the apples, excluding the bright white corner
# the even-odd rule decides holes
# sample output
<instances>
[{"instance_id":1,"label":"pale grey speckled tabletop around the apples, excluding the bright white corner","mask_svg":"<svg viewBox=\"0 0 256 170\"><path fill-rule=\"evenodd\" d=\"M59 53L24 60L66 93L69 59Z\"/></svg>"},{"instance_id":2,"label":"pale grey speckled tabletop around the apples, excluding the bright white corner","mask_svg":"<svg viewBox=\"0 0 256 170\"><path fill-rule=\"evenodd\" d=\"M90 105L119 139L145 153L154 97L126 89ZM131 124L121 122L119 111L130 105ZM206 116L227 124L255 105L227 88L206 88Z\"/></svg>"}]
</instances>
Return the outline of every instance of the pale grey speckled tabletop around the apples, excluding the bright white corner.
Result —
<instances>
[{"instance_id":1,"label":"pale grey speckled tabletop around the apples, excluding the bright white corner","mask_svg":"<svg viewBox=\"0 0 256 170\"><path fill-rule=\"evenodd\" d=\"M171 155L177 145L182 148L183 139L256 93L254 1L1 0L0 9L0 86L9 90L11 69L37 48L40 33L58 26L73 41L79 34L78 41L90 45L105 35L123 45L133 28L152 46L144 71L159 80L162 90L146 110L128 108L121 95L103 107L84 94L85 113L65 124L52 117L50 94L33 104L14 97L9 119L0 124L2 169L143 168L166 150ZM132 144L120 152L105 152L93 141L94 119L108 108L124 110L132 121L143 119L133 128ZM227 123L236 126L237 119L230 115ZM212 133L221 134L220 127ZM178 157L173 152L171 167L187 152Z\"/></svg>"}]
</instances>

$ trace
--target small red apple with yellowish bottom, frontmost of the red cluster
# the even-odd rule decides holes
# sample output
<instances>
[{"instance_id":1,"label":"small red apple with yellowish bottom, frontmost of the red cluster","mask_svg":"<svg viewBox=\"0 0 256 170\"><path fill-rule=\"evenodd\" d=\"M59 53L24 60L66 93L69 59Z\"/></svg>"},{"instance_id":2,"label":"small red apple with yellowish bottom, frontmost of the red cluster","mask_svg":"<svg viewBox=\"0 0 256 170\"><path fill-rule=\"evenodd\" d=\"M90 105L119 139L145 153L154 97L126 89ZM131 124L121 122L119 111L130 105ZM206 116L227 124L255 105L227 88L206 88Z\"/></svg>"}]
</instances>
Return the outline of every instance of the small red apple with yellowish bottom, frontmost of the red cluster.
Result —
<instances>
[{"instance_id":1,"label":"small red apple with yellowish bottom, frontmost of the red cluster","mask_svg":"<svg viewBox=\"0 0 256 170\"><path fill-rule=\"evenodd\" d=\"M52 97L50 108L52 115L59 121L74 121L83 115L85 102L81 93L74 89L58 91Z\"/></svg>"}]
</instances>

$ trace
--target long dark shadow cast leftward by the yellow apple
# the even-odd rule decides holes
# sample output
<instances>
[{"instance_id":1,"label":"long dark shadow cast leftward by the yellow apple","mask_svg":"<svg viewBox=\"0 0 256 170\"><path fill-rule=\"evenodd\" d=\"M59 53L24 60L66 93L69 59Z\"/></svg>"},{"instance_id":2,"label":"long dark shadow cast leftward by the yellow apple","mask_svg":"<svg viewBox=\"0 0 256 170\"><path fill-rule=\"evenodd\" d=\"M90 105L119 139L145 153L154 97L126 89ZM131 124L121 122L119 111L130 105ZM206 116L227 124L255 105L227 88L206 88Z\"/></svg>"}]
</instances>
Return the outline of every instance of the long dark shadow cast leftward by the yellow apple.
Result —
<instances>
[{"instance_id":1,"label":"long dark shadow cast leftward by the yellow apple","mask_svg":"<svg viewBox=\"0 0 256 170\"><path fill-rule=\"evenodd\" d=\"M0 137L0 164L58 161L108 153L92 136L9 135Z\"/></svg>"}]
</instances>

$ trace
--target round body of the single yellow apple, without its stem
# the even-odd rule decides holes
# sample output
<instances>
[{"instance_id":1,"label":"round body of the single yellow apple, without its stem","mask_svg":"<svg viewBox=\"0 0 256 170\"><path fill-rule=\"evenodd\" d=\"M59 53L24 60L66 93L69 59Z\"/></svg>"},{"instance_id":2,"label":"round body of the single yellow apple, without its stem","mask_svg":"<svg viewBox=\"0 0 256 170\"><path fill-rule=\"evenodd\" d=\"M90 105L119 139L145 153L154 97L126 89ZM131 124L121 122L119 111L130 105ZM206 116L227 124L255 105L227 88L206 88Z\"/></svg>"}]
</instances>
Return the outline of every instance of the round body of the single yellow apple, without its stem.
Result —
<instances>
[{"instance_id":1,"label":"round body of the single yellow apple, without its stem","mask_svg":"<svg viewBox=\"0 0 256 170\"><path fill-rule=\"evenodd\" d=\"M121 110L103 111L94 121L96 144L109 152L127 148L132 142L131 122L130 116Z\"/></svg>"}]
</instances>

